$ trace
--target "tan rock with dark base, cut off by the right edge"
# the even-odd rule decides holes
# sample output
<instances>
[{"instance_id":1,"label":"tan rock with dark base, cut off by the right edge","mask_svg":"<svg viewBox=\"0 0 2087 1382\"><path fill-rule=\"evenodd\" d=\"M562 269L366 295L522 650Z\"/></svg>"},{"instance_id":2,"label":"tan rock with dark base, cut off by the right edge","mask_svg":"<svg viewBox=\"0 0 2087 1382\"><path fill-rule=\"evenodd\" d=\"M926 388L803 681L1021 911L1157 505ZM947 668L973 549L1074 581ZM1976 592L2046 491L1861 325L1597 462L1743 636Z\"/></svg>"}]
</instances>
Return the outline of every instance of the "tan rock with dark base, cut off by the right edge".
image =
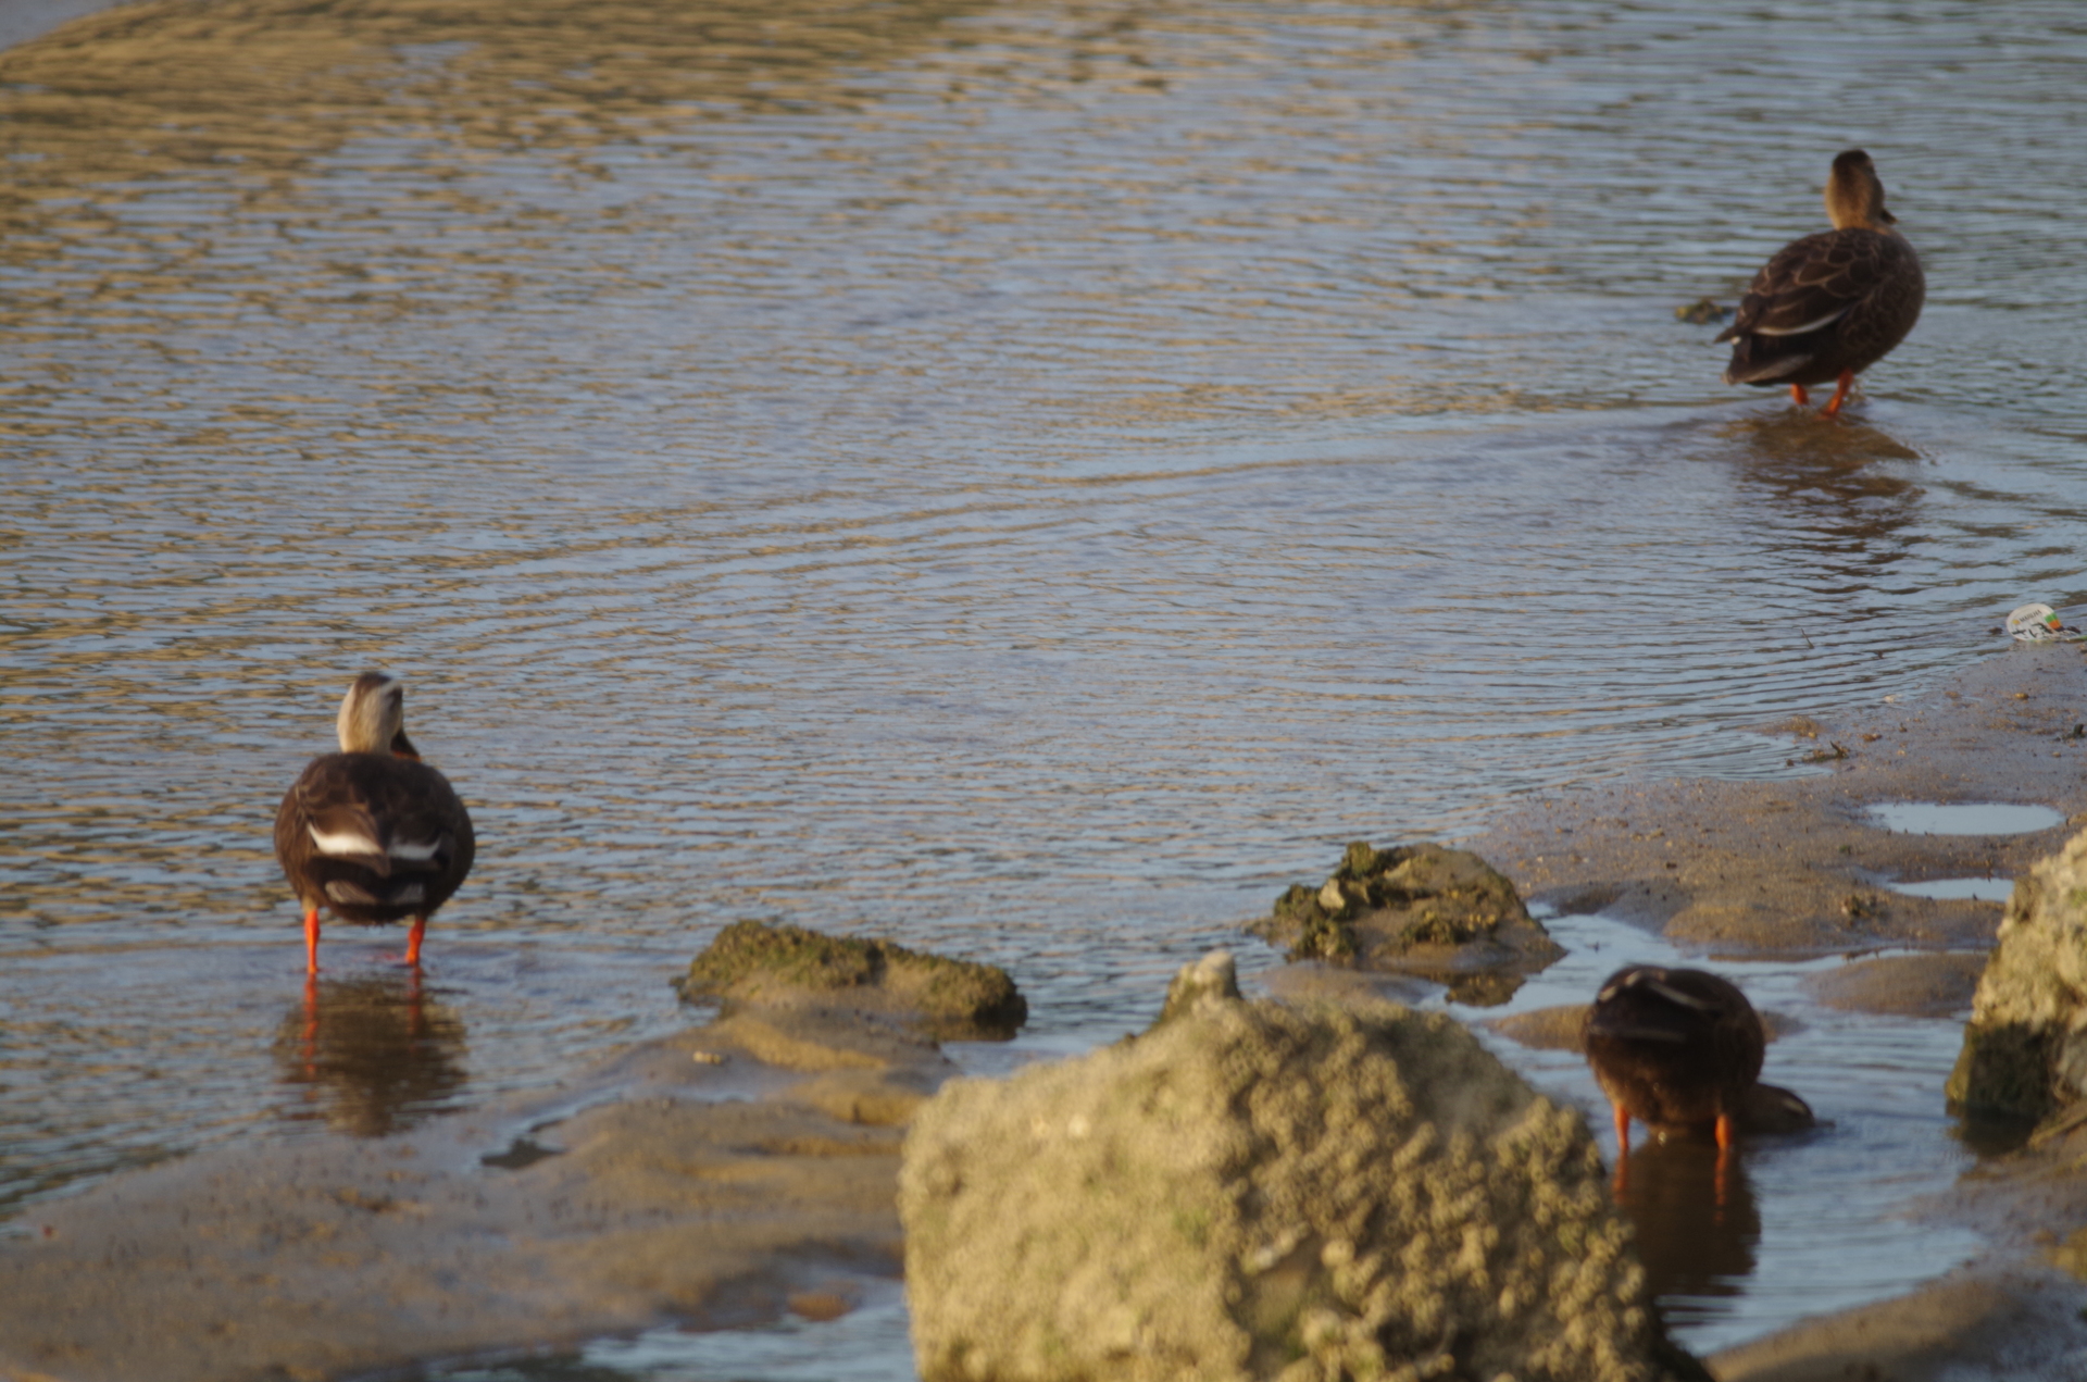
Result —
<instances>
[{"instance_id":1,"label":"tan rock with dark base, cut off by the right edge","mask_svg":"<svg viewBox=\"0 0 2087 1382\"><path fill-rule=\"evenodd\" d=\"M2014 881L1947 1094L2029 1119L2087 1096L2087 831Z\"/></svg>"}]
</instances>

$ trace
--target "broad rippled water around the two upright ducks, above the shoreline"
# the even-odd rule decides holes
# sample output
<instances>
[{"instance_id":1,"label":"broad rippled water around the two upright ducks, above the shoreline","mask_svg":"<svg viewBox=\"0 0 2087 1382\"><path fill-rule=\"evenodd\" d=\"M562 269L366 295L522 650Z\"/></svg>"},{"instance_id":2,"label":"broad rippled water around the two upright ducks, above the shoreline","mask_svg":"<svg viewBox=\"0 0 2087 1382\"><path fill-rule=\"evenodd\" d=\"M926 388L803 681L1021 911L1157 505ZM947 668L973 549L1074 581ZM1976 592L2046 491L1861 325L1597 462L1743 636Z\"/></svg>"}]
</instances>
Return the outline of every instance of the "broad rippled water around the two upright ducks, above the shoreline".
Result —
<instances>
[{"instance_id":1,"label":"broad rippled water around the two upright ducks, above the shoreline","mask_svg":"<svg viewBox=\"0 0 2087 1382\"><path fill-rule=\"evenodd\" d=\"M1749 726L2087 601L2083 92L2062 2L196 0L0 54L0 1205L555 1079L737 916L1002 962L1077 1050L1340 841L1784 772ZM1820 426L1674 307L1851 144L1930 299ZM294 1054L267 845L365 666L482 839L419 1025L365 1021L397 933L328 942L330 1031L422 1063L378 1094Z\"/></svg>"}]
</instances>

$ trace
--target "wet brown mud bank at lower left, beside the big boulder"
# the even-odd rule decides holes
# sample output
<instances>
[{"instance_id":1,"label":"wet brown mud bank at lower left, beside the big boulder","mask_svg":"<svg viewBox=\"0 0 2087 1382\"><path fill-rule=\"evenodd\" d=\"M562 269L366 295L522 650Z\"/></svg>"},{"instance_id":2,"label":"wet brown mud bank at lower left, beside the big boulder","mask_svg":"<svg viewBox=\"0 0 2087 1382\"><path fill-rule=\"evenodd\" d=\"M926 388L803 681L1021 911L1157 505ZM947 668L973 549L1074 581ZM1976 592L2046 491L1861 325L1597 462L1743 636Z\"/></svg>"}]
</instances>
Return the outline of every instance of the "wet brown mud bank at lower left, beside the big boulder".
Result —
<instances>
[{"instance_id":1,"label":"wet brown mud bank at lower left, beside the big boulder","mask_svg":"<svg viewBox=\"0 0 2087 1382\"><path fill-rule=\"evenodd\" d=\"M0 1376L338 1378L841 1313L897 1276L899 1129L954 1073L856 996L739 1002L549 1096L42 1205L0 1244Z\"/></svg>"}]
</instances>

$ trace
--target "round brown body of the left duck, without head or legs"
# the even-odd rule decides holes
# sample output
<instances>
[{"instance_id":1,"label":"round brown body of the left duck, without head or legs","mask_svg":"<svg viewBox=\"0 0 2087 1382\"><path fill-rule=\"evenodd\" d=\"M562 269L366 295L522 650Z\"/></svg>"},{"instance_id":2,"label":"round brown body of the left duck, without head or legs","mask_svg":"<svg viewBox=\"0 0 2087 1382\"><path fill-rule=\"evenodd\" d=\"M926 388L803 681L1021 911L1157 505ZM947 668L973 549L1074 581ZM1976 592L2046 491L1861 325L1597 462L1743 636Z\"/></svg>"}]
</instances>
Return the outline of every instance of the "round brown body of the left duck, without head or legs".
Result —
<instances>
[{"instance_id":1,"label":"round brown body of the left duck, without head or legs","mask_svg":"<svg viewBox=\"0 0 2087 1382\"><path fill-rule=\"evenodd\" d=\"M275 858L307 906L344 921L426 916L472 871L472 816L434 768L328 754L275 812Z\"/></svg>"}]
</instances>

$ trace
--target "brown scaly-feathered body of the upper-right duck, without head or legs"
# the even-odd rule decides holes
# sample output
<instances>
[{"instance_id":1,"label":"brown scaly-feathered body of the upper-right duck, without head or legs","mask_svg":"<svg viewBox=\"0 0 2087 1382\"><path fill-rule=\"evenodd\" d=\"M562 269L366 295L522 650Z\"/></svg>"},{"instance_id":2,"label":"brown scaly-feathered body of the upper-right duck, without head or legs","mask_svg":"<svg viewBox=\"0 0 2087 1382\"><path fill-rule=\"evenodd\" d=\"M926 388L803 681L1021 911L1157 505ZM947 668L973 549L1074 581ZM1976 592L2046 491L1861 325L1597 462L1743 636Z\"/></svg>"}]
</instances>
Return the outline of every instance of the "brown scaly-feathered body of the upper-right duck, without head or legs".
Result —
<instances>
[{"instance_id":1,"label":"brown scaly-feathered body of the upper-right duck, without head or legs","mask_svg":"<svg viewBox=\"0 0 2087 1382\"><path fill-rule=\"evenodd\" d=\"M1855 338L1868 344L1874 332L1866 326L1845 338L1845 328L1851 317L1876 315L1880 301L1903 296L1908 284L1916 284L1912 315L1918 315L1918 280L1912 244L1880 230L1828 230L1782 246L1753 276L1732 326L1718 334L1736 342L1726 382L1824 382L1874 363L1912 328L1912 317L1882 349L1860 351L1866 359L1855 359L1847 344Z\"/></svg>"}]
</instances>

